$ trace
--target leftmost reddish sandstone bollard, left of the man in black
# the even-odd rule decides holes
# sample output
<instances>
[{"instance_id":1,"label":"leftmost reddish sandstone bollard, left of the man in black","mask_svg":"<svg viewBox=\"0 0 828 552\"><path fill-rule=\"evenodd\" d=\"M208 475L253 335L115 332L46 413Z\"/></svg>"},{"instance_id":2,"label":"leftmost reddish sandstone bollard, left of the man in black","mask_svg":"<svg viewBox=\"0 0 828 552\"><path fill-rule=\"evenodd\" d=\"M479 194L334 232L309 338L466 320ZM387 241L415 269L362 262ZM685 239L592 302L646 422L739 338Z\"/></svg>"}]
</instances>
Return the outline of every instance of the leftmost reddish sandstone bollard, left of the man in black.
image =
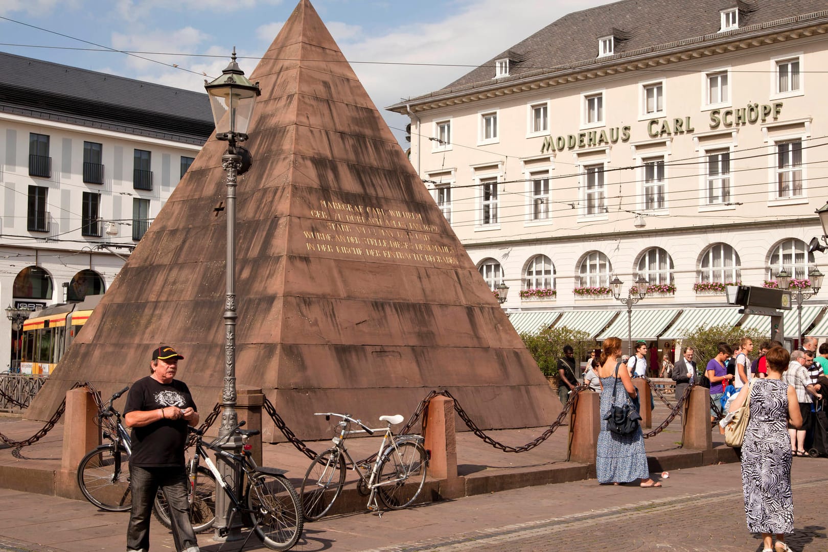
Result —
<instances>
[{"instance_id":1,"label":"leftmost reddish sandstone bollard, left of the man in black","mask_svg":"<svg viewBox=\"0 0 828 552\"><path fill-rule=\"evenodd\" d=\"M63 414L63 451L60 468L76 471L86 453L100 444L101 433L95 424L98 406L86 387L66 391Z\"/></svg>"}]
</instances>

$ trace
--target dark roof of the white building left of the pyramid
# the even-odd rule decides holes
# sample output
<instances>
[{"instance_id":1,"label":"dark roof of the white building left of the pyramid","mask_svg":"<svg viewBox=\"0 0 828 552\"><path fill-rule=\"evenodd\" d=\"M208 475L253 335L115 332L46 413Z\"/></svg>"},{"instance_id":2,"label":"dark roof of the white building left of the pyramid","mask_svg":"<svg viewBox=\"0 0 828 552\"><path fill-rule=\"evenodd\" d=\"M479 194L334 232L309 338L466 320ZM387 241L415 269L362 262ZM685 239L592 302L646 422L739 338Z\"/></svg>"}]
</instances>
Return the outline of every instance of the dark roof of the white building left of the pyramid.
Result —
<instances>
[{"instance_id":1,"label":"dark roof of the white building left of the pyramid","mask_svg":"<svg viewBox=\"0 0 828 552\"><path fill-rule=\"evenodd\" d=\"M196 144L214 128L207 94L5 52L0 110Z\"/></svg>"}]
</instances>

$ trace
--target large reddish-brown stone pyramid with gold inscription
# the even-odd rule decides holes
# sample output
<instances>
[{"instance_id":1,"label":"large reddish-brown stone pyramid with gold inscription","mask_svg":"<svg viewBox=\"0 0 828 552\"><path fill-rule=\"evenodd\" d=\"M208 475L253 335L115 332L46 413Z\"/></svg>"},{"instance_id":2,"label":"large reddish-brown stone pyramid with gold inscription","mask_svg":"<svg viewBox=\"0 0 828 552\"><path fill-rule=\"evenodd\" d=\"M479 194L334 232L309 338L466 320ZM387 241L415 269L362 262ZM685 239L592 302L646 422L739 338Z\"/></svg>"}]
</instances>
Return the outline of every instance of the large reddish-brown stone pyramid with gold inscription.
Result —
<instances>
[{"instance_id":1,"label":"large reddish-brown stone pyramid with gold inscription","mask_svg":"<svg viewBox=\"0 0 828 552\"><path fill-rule=\"evenodd\" d=\"M250 79L238 386L261 387L301 439L330 437L314 412L408 416L432 389L482 428L549 424L556 396L310 2ZM185 356L200 410L221 400L226 146L205 144L27 417L46 420L76 381L107 396L147 375L160 343Z\"/></svg>"}]
</instances>

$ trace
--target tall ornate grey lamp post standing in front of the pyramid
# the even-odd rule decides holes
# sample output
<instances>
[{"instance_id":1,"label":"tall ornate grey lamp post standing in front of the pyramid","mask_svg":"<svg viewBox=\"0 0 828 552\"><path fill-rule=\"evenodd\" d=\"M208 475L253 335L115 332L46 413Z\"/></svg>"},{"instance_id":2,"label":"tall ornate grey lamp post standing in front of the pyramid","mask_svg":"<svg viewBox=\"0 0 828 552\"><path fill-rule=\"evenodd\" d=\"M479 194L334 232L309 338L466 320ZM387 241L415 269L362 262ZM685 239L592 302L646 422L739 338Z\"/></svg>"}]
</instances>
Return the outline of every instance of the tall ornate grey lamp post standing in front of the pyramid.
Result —
<instances>
[{"instance_id":1,"label":"tall ornate grey lamp post standing in front of the pyramid","mask_svg":"<svg viewBox=\"0 0 828 552\"><path fill-rule=\"evenodd\" d=\"M205 89L209 94L210 108L213 110L215 121L215 137L227 142L227 153L221 158L221 165L227 171L227 263L226 263L226 295L224 296L224 388L221 396L221 425L219 438L224 448L238 454L242 448L241 439L233 435L233 429L238 425L236 412L236 178L243 175L251 165L250 153L239 142L248 139L247 131L250 118L253 115L253 104L261 91L258 83L251 83L244 71L236 63L236 49L233 48L232 60L221 72L221 76L212 82L205 80ZM216 456L217 459L219 456ZM233 481L233 488L238 492L240 482L234 481L235 473L224 461L219 465L226 481ZM223 492L216 497L215 507L215 536L221 539L238 537L236 533L230 535L232 528L228 526L229 511L232 503Z\"/></svg>"}]
</instances>

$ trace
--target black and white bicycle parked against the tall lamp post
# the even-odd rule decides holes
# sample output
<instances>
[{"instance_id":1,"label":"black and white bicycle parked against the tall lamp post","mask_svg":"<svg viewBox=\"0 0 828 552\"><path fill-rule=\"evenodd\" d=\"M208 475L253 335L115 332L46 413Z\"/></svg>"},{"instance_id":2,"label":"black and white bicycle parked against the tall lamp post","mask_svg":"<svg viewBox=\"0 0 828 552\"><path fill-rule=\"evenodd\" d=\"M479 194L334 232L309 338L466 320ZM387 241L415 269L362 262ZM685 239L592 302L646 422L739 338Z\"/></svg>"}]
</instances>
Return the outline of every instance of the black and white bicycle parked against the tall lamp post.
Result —
<instances>
[{"instance_id":1,"label":"black and white bicycle parked against the tall lamp post","mask_svg":"<svg viewBox=\"0 0 828 552\"><path fill-rule=\"evenodd\" d=\"M228 527L233 526L233 517L236 514L243 514L250 517L253 523L253 531L262 542L272 550L290 550L302 533L304 519L302 517L301 502L296 489L285 477L286 470L277 468L263 468L256 465L251 450L253 445L248 444L252 435L257 435L258 430L242 430L241 422L226 437L217 437L210 443L202 439L204 431L191 427L190 432L197 435L195 439L195 454L190 461L190 504L196 500L194 489L199 488L198 480L202 474L199 462L204 458L209 473L214 476L214 482L224 489L233 507L230 509L230 516L227 522ZM230 435L239 434L242 436L243 449L241 454L233 454L222 448L224 441ZM237 496L233 487L224 480L215 463L209 458L205 449L213 450L218 456L224 459L233 468L236 477L235 481L247 481L244 492ZM239 489L240 490L240 489ZM219 534L225 533L226 529L220 530ZM248 539L250 535L248 535Z\"/></svg>"}]
</instances>

